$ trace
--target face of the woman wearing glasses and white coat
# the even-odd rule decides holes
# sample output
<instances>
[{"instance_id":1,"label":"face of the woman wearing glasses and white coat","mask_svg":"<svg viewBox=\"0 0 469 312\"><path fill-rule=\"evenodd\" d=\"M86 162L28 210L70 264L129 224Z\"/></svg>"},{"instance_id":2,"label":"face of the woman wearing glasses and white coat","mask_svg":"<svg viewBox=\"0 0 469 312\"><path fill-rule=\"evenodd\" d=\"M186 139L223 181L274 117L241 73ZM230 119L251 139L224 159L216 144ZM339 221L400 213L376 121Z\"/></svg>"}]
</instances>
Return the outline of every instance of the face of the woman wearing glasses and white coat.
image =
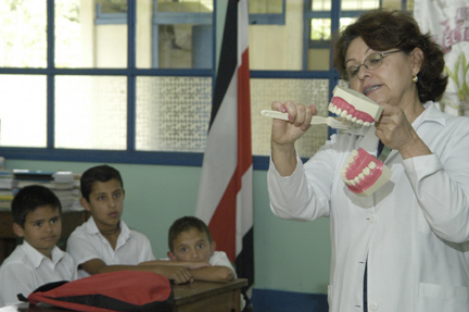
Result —
<instances>
[{"instance_id":1,"label":"face of the woman wearing glasses and white coat","mask_svg":"<svg viewBox=\"0 0 469 312\"><path fill-rule=\"evenodd\" d=\"M345 55L345 67L359 66L365 59L376 52L370 49L362 37L352 40ZM414 52L413 52L414 53ZM386 55L381 65L376 70L359 67L355 79L350 82L352 89L359 91L380 104L391 104L405 109L408 104L418 102L417 87L413 83L414 75L418 74L420 67L413 65L413 55L396 52Z\"/></svg>"}]
</instances>

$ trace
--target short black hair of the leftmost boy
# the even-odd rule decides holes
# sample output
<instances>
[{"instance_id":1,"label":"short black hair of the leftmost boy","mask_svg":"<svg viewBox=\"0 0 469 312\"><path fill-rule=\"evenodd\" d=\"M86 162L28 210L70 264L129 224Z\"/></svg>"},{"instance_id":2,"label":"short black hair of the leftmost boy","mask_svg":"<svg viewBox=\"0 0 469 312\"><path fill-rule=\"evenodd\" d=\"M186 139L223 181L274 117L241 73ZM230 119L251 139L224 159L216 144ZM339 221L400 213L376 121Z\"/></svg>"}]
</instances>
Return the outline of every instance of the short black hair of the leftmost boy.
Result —
<instances>
[{"instance_id":1,"label":"short black hair of the leftmost boy","mask_svg":"<svg viewBox=\"0 0 469 312\"><path fill-rule=\"evenodd\" d=\"M52 205L62 213L60 200L52 190L41 185L25 186L13 198L13 222L24 227L26 215L42 205Z\"/></svg>"}]
</instances>

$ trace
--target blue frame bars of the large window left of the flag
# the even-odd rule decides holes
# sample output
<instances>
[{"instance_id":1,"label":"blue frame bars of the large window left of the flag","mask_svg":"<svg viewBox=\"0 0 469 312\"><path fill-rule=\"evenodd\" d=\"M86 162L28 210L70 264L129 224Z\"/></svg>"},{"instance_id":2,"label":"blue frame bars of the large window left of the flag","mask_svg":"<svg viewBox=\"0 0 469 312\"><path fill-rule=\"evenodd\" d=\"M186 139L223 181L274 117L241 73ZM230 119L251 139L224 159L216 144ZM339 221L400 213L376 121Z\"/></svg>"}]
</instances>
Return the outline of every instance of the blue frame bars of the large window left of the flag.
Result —
<instances>
[{"instance_id":1,"label":"blue frame bars of the large window left of the flag","mask_svg":"<svg viewBox=\"0 0 469 312\"><path fill-rule=\"evenodd\" d=\"M127 40L136 42L136 12L137 0L128 0L128 11L125 16L127 23ZM216 1L214 1L213 42L215 42L216 29ZM97 16L96 23L122 23L123 15L102 13ZM167 152L167 151L137 151L136 150L136 82L141 76L161 77L211 77L212 85L215 82L215 51L213 45L212 68L207 70L173 70L173 68L137 68L136 45L127 45L126 68L56 68L54 66L54 0L47 1L47 67L46 68L18 68L0 67L0 74L12 75L45 75L47 77L47 143L45 148L27 147L0 147L0 154L5 159L15 160L46 160L46 161L74 161L74 162L105 162L105 163L132 163L132 164L162 164L162 165L186 165L201 166L203 153L200 152ZM101 20L98 21L98 17ZM54 147L54 90L55 76L61 75L104 75L125 76L127 78L127 148L125 150L86 150L86 149L62 149Z\"/></svg>"}]
</instances>

